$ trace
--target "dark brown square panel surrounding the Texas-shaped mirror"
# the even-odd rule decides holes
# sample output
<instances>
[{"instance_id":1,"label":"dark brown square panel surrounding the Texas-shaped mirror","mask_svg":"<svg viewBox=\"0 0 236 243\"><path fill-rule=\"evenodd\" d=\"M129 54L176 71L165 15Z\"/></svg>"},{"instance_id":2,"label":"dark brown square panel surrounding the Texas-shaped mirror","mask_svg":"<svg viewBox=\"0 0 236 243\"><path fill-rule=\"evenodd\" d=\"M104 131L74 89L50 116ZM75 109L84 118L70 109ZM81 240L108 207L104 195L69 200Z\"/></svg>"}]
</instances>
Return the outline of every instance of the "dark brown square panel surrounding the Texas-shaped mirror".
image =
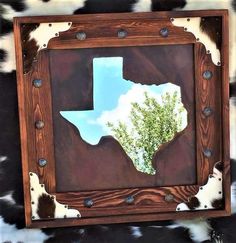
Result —
<instances>
[{"instance_id":1,"label":"dark brown square panel surrounding the Texas-shaped mirror","mask_svg":"<svg viewBox=\"0 0 236 243\"><path fill-rule=\"evenodd\" d=\"M192 45L50 51L58 192L196 184L193 54ZM156 153L155 176L138 172L112 137L87 144L59 114L93 108L92 60L104 56L123 57L126 80L146 85L169 82L181 88L188 126Z\"/></svg>"}]
</instances>

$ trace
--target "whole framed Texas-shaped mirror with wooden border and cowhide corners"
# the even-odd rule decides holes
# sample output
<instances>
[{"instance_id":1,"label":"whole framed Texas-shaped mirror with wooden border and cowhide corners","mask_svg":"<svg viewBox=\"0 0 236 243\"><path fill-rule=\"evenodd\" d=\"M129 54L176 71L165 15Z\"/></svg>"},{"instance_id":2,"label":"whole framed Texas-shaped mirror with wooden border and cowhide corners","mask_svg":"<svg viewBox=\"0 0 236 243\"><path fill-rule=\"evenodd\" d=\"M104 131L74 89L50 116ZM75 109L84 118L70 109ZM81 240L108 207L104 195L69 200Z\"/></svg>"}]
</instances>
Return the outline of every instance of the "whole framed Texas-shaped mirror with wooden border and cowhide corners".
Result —
<instances>
[{"instance_id":1,"label":"whole framed Texas-shaped mirror with wooden border and cowhide corners","mask_svg":"<svg viewBox=\"0 0 236 243\"><path fill-rule=\"evenodd\" d=\"M226 11L23 17L15 37L28 226L229 214Z\"/></svg>"}]
</instances>

